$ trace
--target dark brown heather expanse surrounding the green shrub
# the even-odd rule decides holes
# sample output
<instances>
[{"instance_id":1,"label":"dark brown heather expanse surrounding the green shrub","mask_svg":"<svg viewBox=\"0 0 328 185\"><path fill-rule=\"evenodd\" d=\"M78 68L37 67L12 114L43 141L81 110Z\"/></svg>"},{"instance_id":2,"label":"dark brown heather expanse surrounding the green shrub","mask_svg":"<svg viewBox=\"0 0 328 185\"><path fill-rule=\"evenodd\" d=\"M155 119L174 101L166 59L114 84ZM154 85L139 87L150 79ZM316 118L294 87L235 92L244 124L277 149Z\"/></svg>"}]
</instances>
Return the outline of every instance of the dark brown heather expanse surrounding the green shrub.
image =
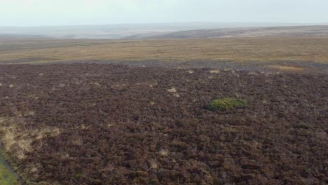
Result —
<instances>
[{"instance_id":1,"label":"dark brown heather expanse surrounding the green shrub","mask_svg":"<svg viewBox=\"0 0 328 185\"><path fill-rule=\"evenodd\" d=\"M328 183L327 74L16 64L0 84L28 184ZM247 107L204 109L224 97Z\"/></svg>"}]
</instances>

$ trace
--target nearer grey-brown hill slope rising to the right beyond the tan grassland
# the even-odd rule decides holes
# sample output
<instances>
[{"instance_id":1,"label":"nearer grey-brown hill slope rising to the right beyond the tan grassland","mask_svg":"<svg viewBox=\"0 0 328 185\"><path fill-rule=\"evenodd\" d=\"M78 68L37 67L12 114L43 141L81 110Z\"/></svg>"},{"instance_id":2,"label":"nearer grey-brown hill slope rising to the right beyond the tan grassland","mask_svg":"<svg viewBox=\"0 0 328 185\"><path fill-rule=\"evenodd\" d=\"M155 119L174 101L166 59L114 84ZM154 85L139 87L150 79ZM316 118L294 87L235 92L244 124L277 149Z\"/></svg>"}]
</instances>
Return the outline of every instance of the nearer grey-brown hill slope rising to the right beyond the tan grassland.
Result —
<instances>
[{"instance_id":1,"label":"nearer grey-brown hill slope rising to the right beyond the tan grassland","mask_svg":"<svg viewBox=\"0 0 328 185\"><path fill-rule=\"evenodd\" d=\"M124 39L196 39L255 36L328 36L328 25L198 29L165 34L138 34L125 37Z\"/></svg>"}]
</instances>

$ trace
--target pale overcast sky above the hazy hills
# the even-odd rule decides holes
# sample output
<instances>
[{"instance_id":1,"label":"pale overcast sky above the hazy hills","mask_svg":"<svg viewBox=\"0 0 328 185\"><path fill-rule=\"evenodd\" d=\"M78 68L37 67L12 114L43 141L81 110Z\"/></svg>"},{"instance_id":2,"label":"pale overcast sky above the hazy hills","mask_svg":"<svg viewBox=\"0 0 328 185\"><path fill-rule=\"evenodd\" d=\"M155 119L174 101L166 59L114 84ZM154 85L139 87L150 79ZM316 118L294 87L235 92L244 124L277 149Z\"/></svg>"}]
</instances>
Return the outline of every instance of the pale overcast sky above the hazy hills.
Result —
<instances>
[{"instance_id":1,"label":"pale overcast sky above the hazy hills","mask_svg":"<svg viewBox=\"0 0 328 185\"><path fill-rule=\"evenodd\" d=\"M327 0L0 0L0 26L328 22Z\"/></svg>"}]
</instances>

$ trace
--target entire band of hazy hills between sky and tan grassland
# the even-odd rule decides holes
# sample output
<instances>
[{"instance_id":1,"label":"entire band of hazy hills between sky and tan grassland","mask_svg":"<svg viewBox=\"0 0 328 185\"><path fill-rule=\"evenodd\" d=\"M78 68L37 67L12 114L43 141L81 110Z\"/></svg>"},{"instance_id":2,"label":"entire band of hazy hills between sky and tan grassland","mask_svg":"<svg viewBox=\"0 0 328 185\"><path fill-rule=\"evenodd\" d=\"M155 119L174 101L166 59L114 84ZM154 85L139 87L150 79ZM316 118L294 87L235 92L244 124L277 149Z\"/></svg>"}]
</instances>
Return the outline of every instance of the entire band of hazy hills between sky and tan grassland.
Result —
<instances>
[{"instance_id":1,"label":"entire band of hazy hills between sky and tan grassland","mask_svg":"<svg viewBox=\"0 0 328 185\"><path fill-rule=\"evenodd\" d=\"M183 22L0 27L0 38L20 39L189 39L231 36L328 36L328 23Z\"/></svg>"}]
</instances>

